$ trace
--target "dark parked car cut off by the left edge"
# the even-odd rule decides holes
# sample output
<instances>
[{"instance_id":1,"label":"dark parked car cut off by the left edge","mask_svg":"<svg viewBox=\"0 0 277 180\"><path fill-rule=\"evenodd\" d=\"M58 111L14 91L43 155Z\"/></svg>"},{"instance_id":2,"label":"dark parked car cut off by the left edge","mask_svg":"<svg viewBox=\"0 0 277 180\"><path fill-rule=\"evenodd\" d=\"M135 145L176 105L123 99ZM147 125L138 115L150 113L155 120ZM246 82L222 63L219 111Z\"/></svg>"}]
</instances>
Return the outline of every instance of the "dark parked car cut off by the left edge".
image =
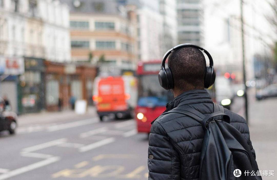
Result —
<instances>
[{"instance_id":1,"label":"dark parked car cut off by the left edge","mask_svg":"<svg viewBox=\"0 0 277 180\"><path fill-rule=\"evenodd\" d=\"M1 98L2 99L2 98ZM17 115L8 110L3 100L0 100L0 132L8 130L14 134L17 127Z\"/></svg>"}]
</instances>

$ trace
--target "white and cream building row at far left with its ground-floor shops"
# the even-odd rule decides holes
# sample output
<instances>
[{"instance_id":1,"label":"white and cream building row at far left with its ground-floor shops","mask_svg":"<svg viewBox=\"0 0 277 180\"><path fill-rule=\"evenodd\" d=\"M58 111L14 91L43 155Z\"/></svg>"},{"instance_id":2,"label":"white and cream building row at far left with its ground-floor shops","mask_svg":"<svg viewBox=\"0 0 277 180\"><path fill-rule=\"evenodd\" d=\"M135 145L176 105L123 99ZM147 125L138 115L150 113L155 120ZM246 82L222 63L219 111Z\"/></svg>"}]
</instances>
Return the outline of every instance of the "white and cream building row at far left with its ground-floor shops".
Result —
<instances>
[{"instance_id":1,"label":"white and cream building row at far left with its ground-floor shops","mask_svg":"<svg viewBox=\"0 0 277 180\"><path fill-rule=\"evenodd\" d=\"M13 111L26 94L40 101L44 60L71 61L68 7L58 0L0 0L0 96L8 96Z\"/></svg>"}]
</instances>

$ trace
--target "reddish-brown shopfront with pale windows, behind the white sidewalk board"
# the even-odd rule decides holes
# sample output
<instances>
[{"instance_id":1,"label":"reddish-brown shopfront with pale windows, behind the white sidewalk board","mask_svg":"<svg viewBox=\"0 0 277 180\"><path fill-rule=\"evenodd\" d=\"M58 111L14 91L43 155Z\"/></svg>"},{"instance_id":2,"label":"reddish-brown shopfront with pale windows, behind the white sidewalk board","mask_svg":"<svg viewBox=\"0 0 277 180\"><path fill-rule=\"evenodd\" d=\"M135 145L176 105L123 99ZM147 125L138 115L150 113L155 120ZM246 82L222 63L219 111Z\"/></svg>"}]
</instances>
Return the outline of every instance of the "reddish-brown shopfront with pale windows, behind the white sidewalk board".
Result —
<instances>
[{"instance_id":1,"label":"reddish-brown shopfront with pale windows, behind the white sidewalk board","mask_svg":"<svg viewBox=\"0 0 277 180\"><path fill-rule=\"evenodd\" d=\"M45 61L45 99L49 111L69 109L70 97L85 99L92 96L96 68L87 64L54 63Z\"/></svg>"}]
</instances>

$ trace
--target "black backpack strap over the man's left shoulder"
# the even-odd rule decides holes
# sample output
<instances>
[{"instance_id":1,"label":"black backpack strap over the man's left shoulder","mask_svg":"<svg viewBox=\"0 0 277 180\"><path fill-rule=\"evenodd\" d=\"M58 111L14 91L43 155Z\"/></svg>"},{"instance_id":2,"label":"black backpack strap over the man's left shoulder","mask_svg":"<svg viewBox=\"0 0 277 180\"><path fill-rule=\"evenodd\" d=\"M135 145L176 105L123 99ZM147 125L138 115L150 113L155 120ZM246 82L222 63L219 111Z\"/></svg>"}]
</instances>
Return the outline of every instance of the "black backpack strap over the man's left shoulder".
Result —
<instances>
[{"instance_id":1,"label":"black backpack strap over the man's left shoulder","mask_svg":"<svg viewBox=\"0 0 277 180\"><path fill-rule=\"evenodd\" d=\"M201 124L202 124L203 119L205 119L205 117L206 117L204 114L202 114L198 110L195 110L190 107L182 107L182 106L175 107L174 109L172 109L168 112L165 112L161 115L169 114L172 112L187 115L187 116L197 120Z\"/></svg>"}]
</instances>

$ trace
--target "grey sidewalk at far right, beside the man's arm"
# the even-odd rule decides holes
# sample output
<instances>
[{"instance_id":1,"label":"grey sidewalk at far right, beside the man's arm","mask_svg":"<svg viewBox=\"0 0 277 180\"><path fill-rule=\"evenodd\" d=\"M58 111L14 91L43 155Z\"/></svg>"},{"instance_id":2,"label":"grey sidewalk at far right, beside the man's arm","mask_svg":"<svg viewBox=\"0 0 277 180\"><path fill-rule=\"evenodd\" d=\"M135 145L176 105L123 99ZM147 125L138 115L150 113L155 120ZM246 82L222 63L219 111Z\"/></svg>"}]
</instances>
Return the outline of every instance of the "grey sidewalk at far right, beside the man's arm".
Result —
<instances>
[{"instance_id":1,"label":"grey sidewalk at far right, beside the man's arm","mask_svg":"<svg viewBox=\"0 0 277 180\"><path fill-rule=\"evenodd\" d=\"M259 170L274 171L275 176L263 176L263 180L277 177L277 98L256 101L249 98L250 139L256 151Z\"/></svg>"}]
</instances>

